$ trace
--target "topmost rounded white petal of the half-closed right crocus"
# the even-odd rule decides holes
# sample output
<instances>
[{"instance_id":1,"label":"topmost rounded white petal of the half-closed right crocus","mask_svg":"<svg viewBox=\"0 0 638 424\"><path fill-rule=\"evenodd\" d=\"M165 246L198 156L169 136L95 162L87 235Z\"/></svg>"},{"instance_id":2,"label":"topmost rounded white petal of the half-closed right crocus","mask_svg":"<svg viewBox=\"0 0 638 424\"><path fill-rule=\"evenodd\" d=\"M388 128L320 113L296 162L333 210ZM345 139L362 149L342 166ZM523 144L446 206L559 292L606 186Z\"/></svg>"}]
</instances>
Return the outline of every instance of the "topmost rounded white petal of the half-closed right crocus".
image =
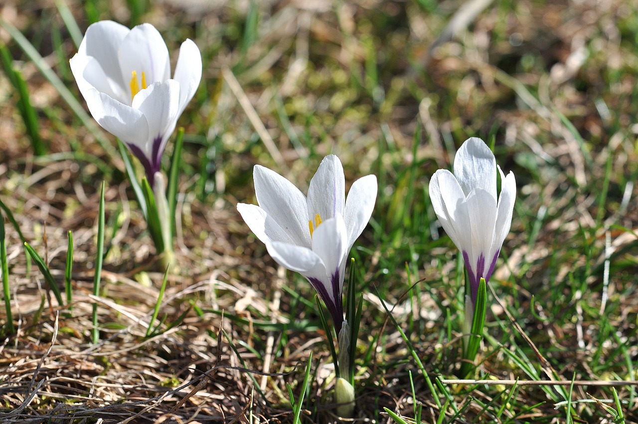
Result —
<instances>
[{"instance_id":1,"label":"topmost rounded white petal of the half-closed right crocus","mask_svg":"<svg viewBox=\"0 0 638 424\"><path fill-rule=\"evenodd\" d=\"M454 158L454 176L466 196L482 188L496 199L496 159L483 140L471 137L463 143Z\"/></svg>"}]
</instances>

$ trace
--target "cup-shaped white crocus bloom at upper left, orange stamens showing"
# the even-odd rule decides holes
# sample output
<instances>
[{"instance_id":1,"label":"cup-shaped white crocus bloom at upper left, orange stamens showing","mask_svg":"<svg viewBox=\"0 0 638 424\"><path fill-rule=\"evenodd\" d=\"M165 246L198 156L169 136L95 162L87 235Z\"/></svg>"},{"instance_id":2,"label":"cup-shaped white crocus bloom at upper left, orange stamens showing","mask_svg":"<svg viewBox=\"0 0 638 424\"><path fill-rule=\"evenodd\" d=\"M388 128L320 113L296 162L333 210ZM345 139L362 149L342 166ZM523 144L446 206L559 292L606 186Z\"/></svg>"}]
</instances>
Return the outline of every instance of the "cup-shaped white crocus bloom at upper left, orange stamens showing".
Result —
<instances>
[{"instance_id":1,"label":"cup-shaped white crocus bloom at upper left, orange stamens showing","mask_svg":"<svg viewBox=\"0 0 638 424\"><path fill-rule=\"evenodd\" d=\"M173 78L168 49L151 24L89 26L71 71L91 114L144 165L153 185L168 137L202 79L202 55L182 43Z\"/></svg>"}]
</instances>

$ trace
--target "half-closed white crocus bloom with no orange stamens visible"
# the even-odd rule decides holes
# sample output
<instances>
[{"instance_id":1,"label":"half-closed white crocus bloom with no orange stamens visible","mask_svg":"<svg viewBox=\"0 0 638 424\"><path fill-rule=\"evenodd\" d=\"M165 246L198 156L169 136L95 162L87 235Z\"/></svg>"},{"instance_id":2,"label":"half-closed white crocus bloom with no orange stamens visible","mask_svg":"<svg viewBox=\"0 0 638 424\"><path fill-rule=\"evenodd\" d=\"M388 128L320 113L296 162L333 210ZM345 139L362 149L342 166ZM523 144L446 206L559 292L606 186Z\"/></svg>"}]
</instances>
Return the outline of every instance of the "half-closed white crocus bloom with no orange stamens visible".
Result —
<instances>
[{"instance_id":1,"label":"half-closed white crocus bloom with no orange stamens visible","mask_svg":"<svg viewBox=\"0 0 638 424\"><path fill-rule=\"evenodd\" d=\"M500 196L496 169L501 176ZM434 172L429 192L439 222L463 254L473 305L480 278L489 281L510 231L516 199L514 174L510 171L506 177L483 140L472 137L456 153L454 174L447 169Z\"/></svg>"}]
</instances>

